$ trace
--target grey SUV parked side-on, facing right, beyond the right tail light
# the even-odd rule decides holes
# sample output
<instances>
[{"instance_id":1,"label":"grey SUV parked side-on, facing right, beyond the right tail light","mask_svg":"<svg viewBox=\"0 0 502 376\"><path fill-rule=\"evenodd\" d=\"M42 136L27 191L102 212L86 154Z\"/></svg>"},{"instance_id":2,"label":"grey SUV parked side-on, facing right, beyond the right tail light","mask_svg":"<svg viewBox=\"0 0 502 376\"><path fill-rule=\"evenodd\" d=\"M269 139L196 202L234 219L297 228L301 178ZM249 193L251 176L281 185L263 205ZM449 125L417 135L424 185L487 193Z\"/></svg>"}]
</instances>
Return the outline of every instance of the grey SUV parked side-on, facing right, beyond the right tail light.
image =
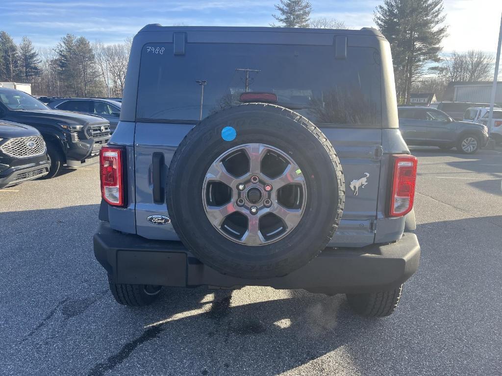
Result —
<instances>
[{"instance_id":1,"label":"grey SUV parked side-on, facing right, beyond the right tail light","mask_svg":"<svg viewBox=\"0 0 502 376\"><path fill-rule=\"evenodd\" d=\"M400 106L399 128L408 145L456 147L473 154L488 142L488 128L481 124L455 121L431 107Z\"/></svg>"}]
</instances>

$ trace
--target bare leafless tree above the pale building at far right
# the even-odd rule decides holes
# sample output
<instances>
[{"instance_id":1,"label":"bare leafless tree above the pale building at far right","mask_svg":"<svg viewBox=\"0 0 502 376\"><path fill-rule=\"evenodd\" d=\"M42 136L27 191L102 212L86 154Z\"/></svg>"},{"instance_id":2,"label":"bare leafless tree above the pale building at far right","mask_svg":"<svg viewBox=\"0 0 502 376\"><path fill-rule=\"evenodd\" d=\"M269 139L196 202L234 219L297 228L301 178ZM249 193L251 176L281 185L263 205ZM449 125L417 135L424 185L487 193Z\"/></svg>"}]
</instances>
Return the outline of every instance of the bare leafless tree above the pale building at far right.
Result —
<instances>
[{"instance_id":1,"label":"bare leafless tree above the pale building at far right","mask_svg":"<svg viewBox=\"0 0 502 376\"><path fill-rule=\"evenodd\" d=\"M450 81L487 81L493 76L493 60L483 51L453 52L443 67Z\"/></svg>"}]
</instances>

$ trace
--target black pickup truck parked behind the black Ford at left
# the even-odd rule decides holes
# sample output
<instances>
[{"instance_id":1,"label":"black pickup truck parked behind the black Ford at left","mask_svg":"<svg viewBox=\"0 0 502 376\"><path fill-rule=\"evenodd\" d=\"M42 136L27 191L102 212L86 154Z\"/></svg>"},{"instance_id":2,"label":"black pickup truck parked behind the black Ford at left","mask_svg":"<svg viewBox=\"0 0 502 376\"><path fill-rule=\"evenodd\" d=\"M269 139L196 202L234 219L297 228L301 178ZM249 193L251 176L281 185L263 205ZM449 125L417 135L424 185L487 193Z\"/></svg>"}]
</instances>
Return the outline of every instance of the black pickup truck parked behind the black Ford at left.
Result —
<instances>
[{"instance_id":1,"label":"black pickup truck parked behind the black Ford at left","mask_svg":"<svg viewBox=\"0 0 502 376\"><path fill-rule=\"evenodd\" d=\"M110 124L99 116L53 110L29 94L0 88L0 120L35 127L44 137L51 162L47 178L66 163L80 167L99 154L110 139Z\"/></svg>"}]
</instances>

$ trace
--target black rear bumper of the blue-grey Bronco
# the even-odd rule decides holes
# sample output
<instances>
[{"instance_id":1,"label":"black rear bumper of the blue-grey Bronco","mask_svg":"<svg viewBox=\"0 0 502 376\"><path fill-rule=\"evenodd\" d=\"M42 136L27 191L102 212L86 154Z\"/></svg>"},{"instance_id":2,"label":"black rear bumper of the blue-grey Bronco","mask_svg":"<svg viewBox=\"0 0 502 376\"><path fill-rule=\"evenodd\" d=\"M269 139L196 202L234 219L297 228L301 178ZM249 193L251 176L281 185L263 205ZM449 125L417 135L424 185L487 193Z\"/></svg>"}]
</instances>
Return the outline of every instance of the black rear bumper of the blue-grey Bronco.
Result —
<instances>
[{"instance_id":1,"label":"black rear bumper of the blue-grey Bronco","mask_svg":"<svg viewBox=\"0 0 502 376\"><path fill-rule=\"evenodd\" d=\"M122 234L101 222L94 255L115 283L164 286L271 286L319 293L391 290L418 269L420 245L405 233L396 243L363 248L326 248L309 264L283 277L241 279L202 264L181 242L155 241Z\"/></svg>"}]
</instances>

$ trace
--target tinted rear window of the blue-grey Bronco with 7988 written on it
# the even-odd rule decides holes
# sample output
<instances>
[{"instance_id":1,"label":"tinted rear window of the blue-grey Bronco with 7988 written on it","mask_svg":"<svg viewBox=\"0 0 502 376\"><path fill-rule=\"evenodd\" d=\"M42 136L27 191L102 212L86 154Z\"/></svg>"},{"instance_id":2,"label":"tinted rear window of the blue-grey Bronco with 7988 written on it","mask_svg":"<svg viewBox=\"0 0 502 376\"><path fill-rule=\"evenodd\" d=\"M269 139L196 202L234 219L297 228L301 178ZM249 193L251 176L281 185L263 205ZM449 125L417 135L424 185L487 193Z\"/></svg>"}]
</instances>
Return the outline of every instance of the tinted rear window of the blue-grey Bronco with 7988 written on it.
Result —
<instances>
[{"instance_id":1,"label":"tinted rear window of the blue-grey Bronco with 7988 written on it","mask_svg":"<svg viewBox=\"0 0 502 376\"><path fill-rule=\"evenodd\" d=\"M199 120L239 104L245 92L272 93L277 103L317 124L381 125L380 56L332 46L147 44L141 57L137 118ZM202 103L202 104L201 104Z\"/></svg>"}]
</instances>

